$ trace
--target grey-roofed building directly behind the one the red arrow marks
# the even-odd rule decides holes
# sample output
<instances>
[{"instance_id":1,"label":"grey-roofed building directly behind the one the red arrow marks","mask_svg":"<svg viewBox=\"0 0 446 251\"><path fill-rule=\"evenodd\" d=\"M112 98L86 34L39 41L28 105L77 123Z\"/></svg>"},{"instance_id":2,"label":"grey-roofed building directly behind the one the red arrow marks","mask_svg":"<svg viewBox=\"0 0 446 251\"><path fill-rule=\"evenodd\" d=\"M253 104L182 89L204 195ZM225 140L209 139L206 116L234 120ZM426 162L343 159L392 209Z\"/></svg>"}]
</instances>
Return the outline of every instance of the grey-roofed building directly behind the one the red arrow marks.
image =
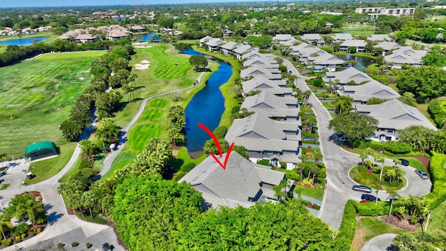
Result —
<instances>
[{"instance_id":1,"label":"grey-roofed building directly behind the one the red arrow marks","mask_svg":"<svg viewBox=\"0 0 446 251\"><path fill-rule=\"evenodd\" d=\"M265 114L255 113L235 119L224 139L238 146L245 146L249 160L267 159L278 166L286 162L286 169L293 169L300 162L300 123L275 121Z\"/></svg>"}]
</instances>

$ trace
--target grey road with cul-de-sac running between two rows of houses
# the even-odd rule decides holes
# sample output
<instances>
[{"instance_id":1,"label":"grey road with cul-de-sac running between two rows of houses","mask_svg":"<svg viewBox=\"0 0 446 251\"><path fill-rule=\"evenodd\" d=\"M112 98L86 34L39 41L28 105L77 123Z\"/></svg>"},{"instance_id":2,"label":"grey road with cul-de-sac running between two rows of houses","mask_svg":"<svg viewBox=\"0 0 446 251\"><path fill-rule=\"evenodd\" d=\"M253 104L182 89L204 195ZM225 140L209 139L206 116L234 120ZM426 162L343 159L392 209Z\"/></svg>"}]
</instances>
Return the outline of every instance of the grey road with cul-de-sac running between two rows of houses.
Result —
<instances>
[{"instance_id":1,"label":"grey road with cul-de-sac running between two rows of houses","mask_svg":"<svg viewBox=\"0 0 446 251\"><path fill-rule=\"evenodd\" d=\"M284 65L294 75L298 76L296 86L302 91L309 90L307 84L305 84L306 77L301 76L290 61L284 60ZM312 104L314 114L316 114L318 121L319 141L321 143L325 167L327 167L327 185L325 186L325 195L318 217L334 229L338 229L339 225L341 225L344 206L348 199L360 201L362 193L355 192L351 189L353 185L357 184L348 176L348 171L351 167L358 165L360 158L355 153L341 149L341 147L332 141L334 132L328 130L328 123L330 123L332 117L314 93L310 96L309 103ZM384 165L394 165L393 160L386 159ZM406 188L400 190L399 195L426 195L431 192L432 184L430 180L423 180L418 177L413 167L403 167L403 169L406 171L408 185ZM376 195L375 192L372 192L372 194ZM387 199L387 192L380 190L378 197L382 200Z\"/></svg>"}]
</instances>

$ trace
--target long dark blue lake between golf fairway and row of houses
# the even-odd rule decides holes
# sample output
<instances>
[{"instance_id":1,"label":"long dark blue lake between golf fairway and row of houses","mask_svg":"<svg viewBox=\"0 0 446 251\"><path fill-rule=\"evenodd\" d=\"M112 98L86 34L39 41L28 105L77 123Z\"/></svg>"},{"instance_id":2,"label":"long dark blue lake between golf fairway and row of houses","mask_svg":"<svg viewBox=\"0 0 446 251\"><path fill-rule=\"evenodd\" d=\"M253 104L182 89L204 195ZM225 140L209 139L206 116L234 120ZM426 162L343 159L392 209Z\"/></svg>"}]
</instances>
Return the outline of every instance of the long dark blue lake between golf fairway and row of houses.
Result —
<instances>
[{"instance_id":1,"label":"long dark blue lake between golf fairway and row of houses","mask_svg":"<svg viewBox=\"0 0 446 251\"><path fill-rule=\"evenodd\" d=\"M192 48L182 52L191 56L203 56ZM213 131L220 123L224 112L224 98L220 86L231 77L232 66L218 59L213 61L220 64L218 71L210 75L206 86L195 94L185 109L186 147L190 153L203 151L204 142L210 139L210 136L198 127L198 123Z\"/></svg>"}]
</instances>

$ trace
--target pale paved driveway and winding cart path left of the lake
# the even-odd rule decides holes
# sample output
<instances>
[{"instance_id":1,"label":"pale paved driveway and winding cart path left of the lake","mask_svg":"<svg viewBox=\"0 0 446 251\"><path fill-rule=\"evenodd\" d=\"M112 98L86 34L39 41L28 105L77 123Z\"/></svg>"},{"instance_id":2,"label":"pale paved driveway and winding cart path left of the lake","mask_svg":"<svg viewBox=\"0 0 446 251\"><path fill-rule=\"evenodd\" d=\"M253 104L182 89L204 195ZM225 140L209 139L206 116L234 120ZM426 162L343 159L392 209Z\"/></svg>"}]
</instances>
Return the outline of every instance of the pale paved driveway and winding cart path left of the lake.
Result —
<instances>
[{"instance_id":1,"label":"pale paved driveway and winding cart path left of the lake","mask_svg":"<svg viewBox=\"0 0 446 251\"><path fill-rule=\"evenodd\" d=\"M201 73L198 77L198 81L201 81L201 77L204 73ZM194 86L186 87L185 89L180 89L180 91L193 88ZM104 165L101 169L100 174L103 175L109 171L109 168L112 165L114 158L121 152L124 148L125 143L127 142L127 132L133 126L133 124L137 121L139 116L141 116L142 112L144 112L144 108L146 107L147 101L152 98L157 98L159 96L164 96L173 91L169 91L167 93L161 93L155 96L151 96L145 98L139 107L137 114L134 115L132 120L128 123L127 126L123 128L123 132L121 132L121 138L123 139L123 144L119 146L119 149L109 153L107 158L104 160ZM79 144L76 146L75 151L73 152L70 160L66 164L65 167L53 176L52 178L47 179L46 181L42 181L40 183L36 183L33 185L23 185L22 181L26 178L26 172L29 169L29 163L24 162L24 160L16 160L13 162L5 162L5 165L10 165L10 168L6 172L7 174L2 176L2 183L10 183L10 186L6 190L0 190L0 199L1 205L0 208L4 208L8 206L9 201L13 199L13 197L17 194L26 191L40 191L43 196L43 203L45 206L45 211L48 215L48 227L37 236L30 238L29 240L18 243L17 245L10 246L3 250L17 250L17 248L26 248L26 249L36 249L49 247L49 244L52 243L65 243L66 248L68 250L84 250L85 243L89 242L93 244L92 250L95 248L101 248L102 244L108 242L110 245L114 245L115 251L125 250L121 245L118 244L118 239L112 227L108 227L107 225L98 225L90 222L84 222L79 220L75 215L68 215L68 211L66 210L66 206L63 203L63 199L61 195L57 192L57 188L59 187L59 178L65 175L73 165L75 165L76 160L79 158L81 150L79 148ZM1 180L0 179L0 180ZM70 243L73 241L79 242L79 246L72 248ZM43 248L45 249L45 248Z\"/></svg>"}]
</instances>

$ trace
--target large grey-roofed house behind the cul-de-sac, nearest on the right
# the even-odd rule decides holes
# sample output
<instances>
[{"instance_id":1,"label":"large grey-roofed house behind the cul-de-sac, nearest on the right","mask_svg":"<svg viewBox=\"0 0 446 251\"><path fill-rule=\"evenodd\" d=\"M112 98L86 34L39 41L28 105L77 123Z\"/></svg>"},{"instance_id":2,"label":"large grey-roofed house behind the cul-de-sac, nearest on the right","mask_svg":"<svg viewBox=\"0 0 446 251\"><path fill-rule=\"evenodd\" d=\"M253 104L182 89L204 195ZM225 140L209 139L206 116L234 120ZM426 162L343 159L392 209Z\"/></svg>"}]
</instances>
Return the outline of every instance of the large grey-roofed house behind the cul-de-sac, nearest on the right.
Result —
<instances>
[{"instance_id":1,"label":"large grey-roofed house behind the cul-de-sac, nearest on the right","mask_svg":"<svg viewBox=\"0 0 446 251\"><path fill-rule=\"evenodd\" d=\"M371 137L374 141L385 142L397 139L398 130L409 126L424 126L437 130L417 108L391 99L379 105L354 105L356 112L367 114L378 120L378 129Z\"/></svg>"}]
</instances>

